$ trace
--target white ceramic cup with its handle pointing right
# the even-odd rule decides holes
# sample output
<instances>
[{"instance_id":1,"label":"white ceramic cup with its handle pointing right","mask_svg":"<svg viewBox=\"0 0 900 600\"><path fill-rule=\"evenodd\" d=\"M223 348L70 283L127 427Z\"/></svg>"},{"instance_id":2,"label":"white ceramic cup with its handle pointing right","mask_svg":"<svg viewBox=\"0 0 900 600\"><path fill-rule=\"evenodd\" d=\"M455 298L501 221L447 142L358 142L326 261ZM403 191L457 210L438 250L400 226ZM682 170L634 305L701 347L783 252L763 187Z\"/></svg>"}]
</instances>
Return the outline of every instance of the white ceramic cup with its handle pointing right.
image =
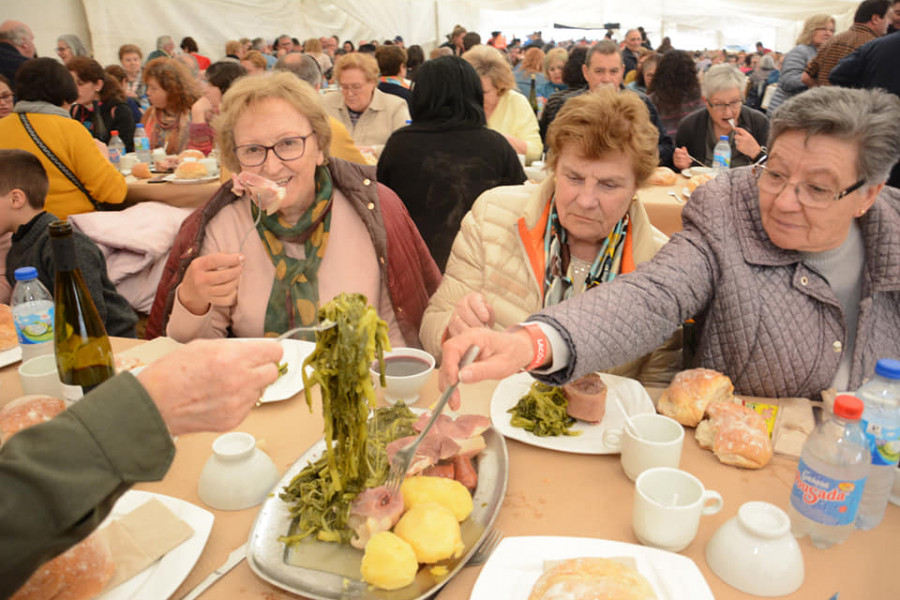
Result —
<instances>
[{"instance_id":1,"label":"white ceramic cup with its handle pointing right","mask_svg":"<svg viewBox=\"0 0 900 600\"><path fill-rule=\"evenodd\" d=\"M722 505L719 492L704 489L687 471L647 469L634 484L634 535L645 546L684 550L697 535L700 517L719 512Z\"/></svg>"}]
</instances>

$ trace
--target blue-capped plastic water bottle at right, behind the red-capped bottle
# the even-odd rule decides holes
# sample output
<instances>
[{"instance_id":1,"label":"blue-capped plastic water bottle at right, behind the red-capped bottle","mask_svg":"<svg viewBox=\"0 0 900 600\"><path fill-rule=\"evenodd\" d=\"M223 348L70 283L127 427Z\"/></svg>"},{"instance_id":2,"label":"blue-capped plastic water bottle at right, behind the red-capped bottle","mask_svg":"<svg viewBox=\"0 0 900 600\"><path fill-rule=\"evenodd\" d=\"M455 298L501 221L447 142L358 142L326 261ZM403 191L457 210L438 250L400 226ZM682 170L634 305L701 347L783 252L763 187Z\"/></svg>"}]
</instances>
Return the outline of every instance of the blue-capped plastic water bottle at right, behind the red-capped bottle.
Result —
<instances>
[{"instance_id":1,"label":"blue-capped plastic water bottle at right, behind the red-capped bottle","mask_svg":"<svg viewBox=\"0 0 900 600\"><path fill-rule=\"evenodd\" d=\"M865 404L862 426L872 453L856 528L872 529L884 518L894 484L894 468L900 459L900 360L879 360L875 377L863 384L856 395Z\"/></svg>"}]
</instances>

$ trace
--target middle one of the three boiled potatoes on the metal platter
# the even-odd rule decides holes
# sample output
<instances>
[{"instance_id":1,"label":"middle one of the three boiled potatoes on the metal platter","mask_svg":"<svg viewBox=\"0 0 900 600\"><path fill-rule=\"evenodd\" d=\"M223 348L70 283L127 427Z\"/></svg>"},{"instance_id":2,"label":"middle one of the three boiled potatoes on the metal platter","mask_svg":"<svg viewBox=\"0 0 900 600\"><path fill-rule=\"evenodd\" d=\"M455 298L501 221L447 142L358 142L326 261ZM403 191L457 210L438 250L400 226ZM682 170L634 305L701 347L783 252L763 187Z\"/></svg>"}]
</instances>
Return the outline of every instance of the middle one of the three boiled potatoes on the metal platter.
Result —
<instances>
[{"instance_id":1,"label":"middle one of the three boiled potatoes on the metal platter","mask_svg":"<svg viewBox=\"0 0 900 600\"><path fill-rule=\"evenodd\" d=\"M394 533L409 542L421 563L462 556L465 550L456 515L440 504L413 506L400 517Z\"/></svg>"}]
</instances>

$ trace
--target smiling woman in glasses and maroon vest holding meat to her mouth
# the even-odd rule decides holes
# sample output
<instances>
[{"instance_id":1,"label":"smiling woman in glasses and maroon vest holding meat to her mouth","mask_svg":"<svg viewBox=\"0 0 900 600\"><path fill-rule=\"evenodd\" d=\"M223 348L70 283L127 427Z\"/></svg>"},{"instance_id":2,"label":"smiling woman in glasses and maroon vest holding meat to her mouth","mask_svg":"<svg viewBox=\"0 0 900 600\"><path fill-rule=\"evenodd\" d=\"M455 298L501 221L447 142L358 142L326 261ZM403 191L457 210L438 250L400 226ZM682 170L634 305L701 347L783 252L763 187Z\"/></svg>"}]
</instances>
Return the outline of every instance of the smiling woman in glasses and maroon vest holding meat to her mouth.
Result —
<instances>
[{"instance_id":1,"label":"smiling woman in glasses and maroon vest holding meat to her mouth","mask_svg":"<svg viewBox=\"0 0 900 600\"><path fill-rule=\"evenodd\" d=\"M392 344L417 346L440 272L374 167L329 157L331 127L315 90L292 73L240 78L222 100L216 135L236 175L182 225L149 335L275 336L314 324L318 306L339 293L358 292L387 321Z\"/></svg>"}]
</instances>

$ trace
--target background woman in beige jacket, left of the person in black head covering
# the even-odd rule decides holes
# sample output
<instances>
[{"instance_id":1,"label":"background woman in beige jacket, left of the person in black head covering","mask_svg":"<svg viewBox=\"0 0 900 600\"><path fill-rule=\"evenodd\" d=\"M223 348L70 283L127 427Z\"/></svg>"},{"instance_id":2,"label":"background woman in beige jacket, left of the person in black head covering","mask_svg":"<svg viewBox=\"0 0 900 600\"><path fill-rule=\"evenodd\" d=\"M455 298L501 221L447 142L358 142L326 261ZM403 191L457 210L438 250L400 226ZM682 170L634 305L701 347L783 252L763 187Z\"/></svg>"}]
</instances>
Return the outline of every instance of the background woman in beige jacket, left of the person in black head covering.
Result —
<instances>
[{"instance_id":1,"label":"background woman in beige jacket, left of the person in black head covering","mask_svg":"<svg viewBox=\"0 0 900 600\"><path fill-rule=\"evenodd\" d=\"M378 63L368 54L340 57L334 80L341 93L325 95L325 110L347 128L357 146L378 154L391 134L409 121L406 100L378 89Z\"/></svg>"}]
</instances>

